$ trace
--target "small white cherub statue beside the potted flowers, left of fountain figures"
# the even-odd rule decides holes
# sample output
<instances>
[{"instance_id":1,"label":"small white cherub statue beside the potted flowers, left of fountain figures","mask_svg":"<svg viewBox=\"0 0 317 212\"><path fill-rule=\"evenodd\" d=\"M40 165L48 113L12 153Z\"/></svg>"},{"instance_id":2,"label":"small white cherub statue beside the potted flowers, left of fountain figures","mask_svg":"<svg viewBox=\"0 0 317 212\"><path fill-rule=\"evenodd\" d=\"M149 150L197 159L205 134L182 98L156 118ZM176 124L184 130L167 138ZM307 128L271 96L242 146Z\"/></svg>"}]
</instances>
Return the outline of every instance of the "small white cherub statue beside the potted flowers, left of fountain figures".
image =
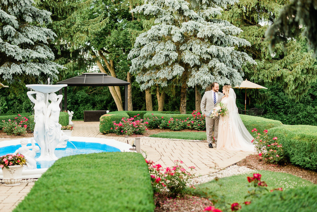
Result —
<instances>
[{"instance_id":1,"label":"small white cherub statue beside the potted flowers, left of fountain figures","mask_svg":"<svg viewBox=\"0 0 317 212\"><path fill-rule=\"evenodd\" d=\"M39 151L40 148L35 145L33 138L31 138L32 146L27 146L29 142L28 142L28 139L26 138L22 138L20 142L21 142L21 147L14 152L14 155L16 155L17 153L20 153L26 159L27 166L24 166L23 169L36 169L35 156L36 156L36 152Z\"/></svg>"}]
</instances>

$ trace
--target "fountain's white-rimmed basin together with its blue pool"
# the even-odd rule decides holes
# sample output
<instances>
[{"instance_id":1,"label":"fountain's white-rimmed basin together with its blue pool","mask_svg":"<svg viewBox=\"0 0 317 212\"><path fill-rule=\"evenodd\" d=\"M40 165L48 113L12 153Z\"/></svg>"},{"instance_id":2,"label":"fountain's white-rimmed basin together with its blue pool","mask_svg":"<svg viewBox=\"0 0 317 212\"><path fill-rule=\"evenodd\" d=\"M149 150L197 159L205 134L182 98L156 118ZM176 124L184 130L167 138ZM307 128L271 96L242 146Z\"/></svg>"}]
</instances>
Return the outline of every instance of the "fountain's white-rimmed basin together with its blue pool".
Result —
<instances>
[{"instance_id":1,"label":"fountain's white-rimmed basin together with its blue pool","mask_svg":"<svg viewBox=\"0 0 317 212\"><path fill-rule=\"evenodd\" d=\"M106 138L92 138L92 137L69 137L66 148L56 148L55 155L58 158L78 155L78 154L89 154L97 152L133 152L130 150L131 145L116 141L114 139ZM31 143L28 143L30 146ZM21 147L20 139L1 141L0 142L0 156L11 154ZM77 149L76 149L77 148ZM63 154L65 150L65 154ZM40 153L36 154L39 157ZM37 162L38 169L23 169L22 179L39 178L41 175L51 166L55 161L39 161ZM2 170L0 169L0 179L3 179Z\"/></svg>"}]
</instances>

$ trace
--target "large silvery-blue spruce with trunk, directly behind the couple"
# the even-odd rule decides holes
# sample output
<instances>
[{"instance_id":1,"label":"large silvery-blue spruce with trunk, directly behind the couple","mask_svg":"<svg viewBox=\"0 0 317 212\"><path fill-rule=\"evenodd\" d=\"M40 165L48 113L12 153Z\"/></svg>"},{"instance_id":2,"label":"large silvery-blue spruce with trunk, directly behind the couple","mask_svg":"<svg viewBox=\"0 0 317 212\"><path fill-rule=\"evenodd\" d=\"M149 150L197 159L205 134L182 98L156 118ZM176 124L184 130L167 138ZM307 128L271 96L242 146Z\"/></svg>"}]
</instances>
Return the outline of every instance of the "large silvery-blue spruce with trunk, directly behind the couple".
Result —
<instances>
[{"instance_id":1,"label":"large silvery-blue spruce with trunk, directly behind the couple","mask_svg":"<svg viewBox=\"0 0 317 212\"><path fill-rule=\"evenodd\" d=\"M136 75L141 89L173 83L181 85L184 94L187 86L204 89L214 81L240 84L242 66L255 62L235 49L250 45L237 37L242 30L214 18L228 3L234 2L149 0L133 9L134 13L155 18L155 25L136 38L128 56L132 59L130 72ZM185 95L181 102L186 103Z\"/></svg>"}]
</instances>

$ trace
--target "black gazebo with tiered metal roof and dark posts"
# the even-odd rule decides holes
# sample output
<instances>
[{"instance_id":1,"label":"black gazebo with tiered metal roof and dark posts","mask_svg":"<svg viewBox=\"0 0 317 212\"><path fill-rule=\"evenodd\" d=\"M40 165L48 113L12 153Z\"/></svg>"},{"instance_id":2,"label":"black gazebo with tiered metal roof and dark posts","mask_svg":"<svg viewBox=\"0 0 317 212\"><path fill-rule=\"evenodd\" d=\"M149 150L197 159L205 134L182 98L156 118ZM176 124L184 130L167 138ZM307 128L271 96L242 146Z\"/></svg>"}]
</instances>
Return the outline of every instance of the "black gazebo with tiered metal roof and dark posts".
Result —
<instances>
[{"instance_id":1,"label":"black gazebo with tiered metal roof and dark posts","mask_svg":"<svg viewBox=\"0 0 317 212\"><path fill-rule=\"evenodd\" d=\"M130 83L105 73L87 72L56 84L67 84L67 86L124 86L124 109L128 110L128 85ZM59 93L62 94L62 91L60 90ZM60 104L60 108L62 109L62 103ZM67 110L67 87L64 87L64 110Z\"/></svg>"}]
</instances>

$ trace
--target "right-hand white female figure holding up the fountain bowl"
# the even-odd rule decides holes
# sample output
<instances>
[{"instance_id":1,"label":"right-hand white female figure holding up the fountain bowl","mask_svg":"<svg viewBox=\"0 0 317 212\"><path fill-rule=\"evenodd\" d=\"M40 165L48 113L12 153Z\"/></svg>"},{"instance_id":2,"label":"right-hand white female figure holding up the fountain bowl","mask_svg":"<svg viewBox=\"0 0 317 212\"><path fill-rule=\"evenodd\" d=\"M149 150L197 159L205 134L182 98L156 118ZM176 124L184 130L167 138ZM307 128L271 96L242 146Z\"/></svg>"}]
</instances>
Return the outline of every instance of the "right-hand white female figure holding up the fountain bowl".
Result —
<instances>
[{"instance_id":1,"label":"right-hand white female figure holding up the fountain bowl","mask_svg":"<svg viewBox=\"0 0 317 212\"><path fill-rule=\"evenodd\" d=\"M53 160L58 158L54 154L54 150L60 141L61 136L61 124L59 121L59 113L61 111L59 104L63 95L56 95L55 93L49 94L49 100L51 103L47 107L45 116L45 132L48 139L49 154Z\"/></svg>"}]
</instances>

